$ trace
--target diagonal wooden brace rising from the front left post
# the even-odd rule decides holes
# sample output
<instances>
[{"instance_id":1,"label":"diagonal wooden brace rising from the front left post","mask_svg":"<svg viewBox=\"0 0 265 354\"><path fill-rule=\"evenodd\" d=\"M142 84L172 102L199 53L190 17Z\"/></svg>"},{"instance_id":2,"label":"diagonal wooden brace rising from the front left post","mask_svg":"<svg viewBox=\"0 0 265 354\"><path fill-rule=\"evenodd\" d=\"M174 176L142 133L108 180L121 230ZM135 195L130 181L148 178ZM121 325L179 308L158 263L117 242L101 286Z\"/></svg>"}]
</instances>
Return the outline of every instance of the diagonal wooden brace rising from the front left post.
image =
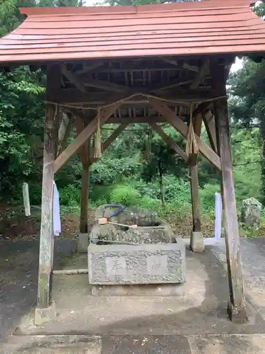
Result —
<instances>
[{"instance_id":1,"label":"diagonal wooden brace rising from the front left post","mask_svg":"<svg viewBox=\"0 0 265 354\"><path fill-rule=\"evenodd\" d=\"M61 169L62 166L73 156L73 154L76 154L78 149L85 144L85 142L93 135L93 132L98 127L98 118L100 118L101 125L103 125L105 122L107 122L108 118L110 118L110 115L112 115L121 103L114 103L108 108L102 108L100 110L100 113L96 115L96 117L88 123L86 128L76 137L76 139L73 140L73 142L66 147L64 152L62 152L57 159L54 161L54 172L57 172L59 169Z\"/></svg>"}]
</instances>

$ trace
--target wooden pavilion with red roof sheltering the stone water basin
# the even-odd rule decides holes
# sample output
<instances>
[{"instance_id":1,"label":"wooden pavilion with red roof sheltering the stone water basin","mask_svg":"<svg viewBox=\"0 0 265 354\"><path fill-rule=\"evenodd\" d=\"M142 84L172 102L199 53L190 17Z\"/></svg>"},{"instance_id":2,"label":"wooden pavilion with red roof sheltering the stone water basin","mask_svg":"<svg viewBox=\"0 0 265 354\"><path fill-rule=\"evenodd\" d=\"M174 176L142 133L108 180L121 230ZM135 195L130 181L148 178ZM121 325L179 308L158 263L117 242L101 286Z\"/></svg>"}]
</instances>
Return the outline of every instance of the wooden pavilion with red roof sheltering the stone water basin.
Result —
<instances>
[{"instance_id":1,"label":"wooden pavilion with red roof sheltering the stone water basin","mask_svg":"<svg viewBox=\"0 0 265 354\"><path fill-rule=\"evenodd\" d=\"M262 58L265 52L265 23L252 12L252 2L20 9L27 18L1 38L1 66L31 65L47 73L37 323L54 314L54 173L74 154L81 154L81 232L87 232L88 169L95 161L89 142L99 122L101 126L119 124L103 143L103 150L130 123L144 122L187 161L194 251L204 249L198 153L216 166L225 210L229 315L232 320L247 319L225 82L237 55ZM192 103L197 105L189 120ZM66 147L72 121L78 135ZM187 138L189 156L159 122L169 122ZM202 122L211 146L200 137Z\"/></svg>"}]
</instances>

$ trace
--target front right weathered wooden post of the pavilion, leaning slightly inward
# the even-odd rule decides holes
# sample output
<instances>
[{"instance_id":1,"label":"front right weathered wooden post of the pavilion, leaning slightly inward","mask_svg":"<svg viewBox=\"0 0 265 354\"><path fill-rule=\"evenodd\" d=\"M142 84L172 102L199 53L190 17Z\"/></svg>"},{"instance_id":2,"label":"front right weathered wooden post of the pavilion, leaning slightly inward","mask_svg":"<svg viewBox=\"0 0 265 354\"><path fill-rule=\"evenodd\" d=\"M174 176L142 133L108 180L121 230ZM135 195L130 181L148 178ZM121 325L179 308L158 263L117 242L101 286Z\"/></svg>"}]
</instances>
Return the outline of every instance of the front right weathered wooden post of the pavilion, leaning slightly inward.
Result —
<instances>
[{"instance_id":1,"label":"front right weathered wooden post of the pavilion, leaning slightly inward","mask_svg":"<svg viewBox=\"0 0 265 354\"><path fill-rule=\"evenodd\" d=\"M211 76L213 85L218 89L218 96L225 96L225 67L212 64ZM231 321L247 321L245 307L245 289L242 277L242 261L240 253L240 232L237 222L237 207L235 202L235 185L232 176L232 152L228 118L227 98L219 98L214 104L216 118L216 137L221 161L221 190L225 211L225 241L228 261L228 282L230 299L228 315Z\"/></svg>"}]
</instances>

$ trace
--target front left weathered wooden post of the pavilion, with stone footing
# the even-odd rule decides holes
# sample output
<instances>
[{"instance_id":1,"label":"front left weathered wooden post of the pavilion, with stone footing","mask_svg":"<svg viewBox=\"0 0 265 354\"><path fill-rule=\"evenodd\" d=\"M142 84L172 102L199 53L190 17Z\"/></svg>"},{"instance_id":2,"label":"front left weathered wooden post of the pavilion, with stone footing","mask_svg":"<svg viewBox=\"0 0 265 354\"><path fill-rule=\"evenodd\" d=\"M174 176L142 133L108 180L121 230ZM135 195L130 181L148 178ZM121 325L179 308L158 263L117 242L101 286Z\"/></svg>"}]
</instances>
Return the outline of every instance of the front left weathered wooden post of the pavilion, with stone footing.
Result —
<instances>
[{"instance_id":1,"label":"front left weathered wooden post of the pavilion, with stone footing","mask_svg":"<svg viewBox=\"0 0 265 354\"><path fill-rule=\"evenodd\" d=\"M47 68L47 101L52 101L54 91L61 84L60 66ZM47 104L45 113L45 137L42 173L42 214L40 225L40 256L37 287L35 324L54 319L55 306L52 302L52 265L54 256L54 234L52 225L54 159L57 154L58 124L54 105Z\"/></svg>"}]
</instances>

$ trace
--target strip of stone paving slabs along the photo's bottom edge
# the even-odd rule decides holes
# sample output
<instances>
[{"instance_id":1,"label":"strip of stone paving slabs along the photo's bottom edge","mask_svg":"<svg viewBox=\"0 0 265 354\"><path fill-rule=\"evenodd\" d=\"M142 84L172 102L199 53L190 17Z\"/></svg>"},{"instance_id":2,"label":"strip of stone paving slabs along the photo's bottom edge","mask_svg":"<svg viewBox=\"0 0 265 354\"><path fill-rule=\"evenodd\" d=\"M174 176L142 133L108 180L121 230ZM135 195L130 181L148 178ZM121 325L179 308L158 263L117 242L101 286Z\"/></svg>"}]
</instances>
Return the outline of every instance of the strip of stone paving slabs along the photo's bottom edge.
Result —
<instances>
[{"instance_id":1,"label":"strip of stone paving slabs along the photo's bottom edge","mask_svg":"<svg viewBox=\"0 0 265 354\"><path fill-rule=\"evenodd\" d=\"M13 337L14 339L14 337ZM263 354L264 335L17 337L5 354Z\"/></svg>"}]
</instances>

